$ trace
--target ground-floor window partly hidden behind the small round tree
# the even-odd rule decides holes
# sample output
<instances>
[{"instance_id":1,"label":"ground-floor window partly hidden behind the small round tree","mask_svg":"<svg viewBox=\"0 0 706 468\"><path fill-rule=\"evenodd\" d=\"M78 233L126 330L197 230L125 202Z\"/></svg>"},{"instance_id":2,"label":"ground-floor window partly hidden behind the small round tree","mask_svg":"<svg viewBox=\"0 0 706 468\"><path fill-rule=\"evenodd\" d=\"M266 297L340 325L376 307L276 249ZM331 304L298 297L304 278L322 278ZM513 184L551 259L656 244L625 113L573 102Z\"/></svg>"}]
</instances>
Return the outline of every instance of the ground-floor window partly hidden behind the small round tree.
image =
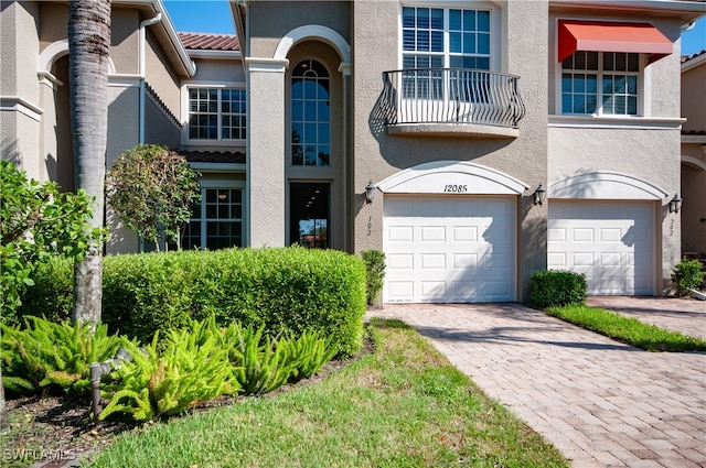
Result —
<instances>
[{"instance_id":1,"label":"ground-floor window partly hidden behind the small round tree","mask_svg":"<svg viewBox=\"0 0 706 468\"><path fill-rule=\"evenodd\" d=\"M243 189L202 188L182 236L183 249L243 247Z\"/></svg>"}]
</instances>

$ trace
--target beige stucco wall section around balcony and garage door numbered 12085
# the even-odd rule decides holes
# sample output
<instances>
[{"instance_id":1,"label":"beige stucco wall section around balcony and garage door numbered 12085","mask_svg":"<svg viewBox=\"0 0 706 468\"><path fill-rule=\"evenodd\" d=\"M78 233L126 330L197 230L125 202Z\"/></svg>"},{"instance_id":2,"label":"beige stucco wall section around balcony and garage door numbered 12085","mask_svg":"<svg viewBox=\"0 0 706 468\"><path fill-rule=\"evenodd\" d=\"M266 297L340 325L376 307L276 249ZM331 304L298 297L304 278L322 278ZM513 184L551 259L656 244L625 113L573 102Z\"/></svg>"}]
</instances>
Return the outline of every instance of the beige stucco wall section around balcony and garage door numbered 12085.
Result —
<instances>
[{"instance_id":1,"label":"beige stucco wall section around balcony and garage door numbered 12085","mask_svg":"<svg viewBox=\"0 0 706 468\"><path fill-rule=\"evenodd\" d=\"M531 274L546 266L546 213L534 207L531 194L547 175L546 50L547 3L513 1L496 7L501 44L500 69L520 76L520 92L527 107L520 137L496 138L391 137L384 122L372 118L383 89L382 73L400 67L399 3L355 2L353 44L354 133L356 197L355 250L383 248L383 200L365 205L368 181L377 183L398 171L435 160L461 160L489 166L531 187L518 204L518 284L526 290ZM521 292L523 295L523 292Z\"/></svg>"}]
</instances>

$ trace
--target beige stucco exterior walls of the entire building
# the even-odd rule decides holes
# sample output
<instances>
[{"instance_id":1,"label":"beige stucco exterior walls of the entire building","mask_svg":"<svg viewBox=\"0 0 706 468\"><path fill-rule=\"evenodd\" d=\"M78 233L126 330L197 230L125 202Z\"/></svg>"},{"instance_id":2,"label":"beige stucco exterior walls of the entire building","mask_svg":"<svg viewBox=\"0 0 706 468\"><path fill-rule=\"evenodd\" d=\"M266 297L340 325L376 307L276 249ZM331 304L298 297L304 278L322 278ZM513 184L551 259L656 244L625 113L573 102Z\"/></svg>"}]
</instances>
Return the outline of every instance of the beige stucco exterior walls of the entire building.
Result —
<instances>
[{"instance_id":1,"label":"beige stucco exterior walls of the entire building","mask_svg":"<svg viewBox=\"0 0 706 468\"><path fill-rule=\"evenodd\" d=\"M297 183L328 184L329 247L351 253L384 250L386 200L395 196L473 202L502 195L512 199L514 209L510 226L516 233L512 239L515 277L510 283L516 290L511 294L514 301L525 301L531 276L547 268L553 200L640 202L654 218L650 284L653 294L661 294L681 258L682 241L706 252L706 221L702 221L706 213L698 203L706 186L706 141L699 137L706 130L706 106L692 98L703 95L706 66L684 70L680 64L681 28L706 14L706 6L639 3L640 15L633 4L621 2L445 3L442 7L491 12L490 72L517 77L526 112L516 126L443 121L405 126L388 124L377 106L384 73L402 68L402 8L424 6L421 0L252 1L234 8L236 15L243 12L235 19L242 53L190 51L186 58L179 41L174 42L171 23L154 20L145 25L160 12L161 2L114 0L107 164L140 142L190 152L244 153L245 160L237 160L244 162L197 166L203 186L244 188L243 238L252 247L296 241L290 213L291 187ZM0 130L3 157L18 161L34 178L56 179L71 189L66 14L65 1L3 3ZM672 54L656 61L641 55L638 116L561 115L560 19L646 22L673 44ZM141 24L146 28L143 48ZM321 63L330 78L328 165L292 163L291 75L303 59ZM676 98L681 86L686 96L682 102ZM245 88L247 138L190 140L190 87ZM685 123L683 117L688 119ZM389 181L405 171L425 171L431 174L426 181L436 184L445 168L451 171L453 181L470 187L468 193L448 194L419 184L391 188ZM473 177L480 173L492 174L494 187L507 183L514 188L477 189L480 179ZM586 186L569 195L557 188L576 176L599 181L601 174L614 175L618 185L599 182L592 189L600 186L600 193ZM366 203L365 188L371 182L378 188L375 199ZM632 182L644 191L620 192L619 184ZM534 203L539 184L548 189L544 205ZM668 209L677 193L684 198L678 214ZM108 222L113 228L109 253L139 249L137 238L121 229L110 213Z\"/></svg>"}]
</instances>

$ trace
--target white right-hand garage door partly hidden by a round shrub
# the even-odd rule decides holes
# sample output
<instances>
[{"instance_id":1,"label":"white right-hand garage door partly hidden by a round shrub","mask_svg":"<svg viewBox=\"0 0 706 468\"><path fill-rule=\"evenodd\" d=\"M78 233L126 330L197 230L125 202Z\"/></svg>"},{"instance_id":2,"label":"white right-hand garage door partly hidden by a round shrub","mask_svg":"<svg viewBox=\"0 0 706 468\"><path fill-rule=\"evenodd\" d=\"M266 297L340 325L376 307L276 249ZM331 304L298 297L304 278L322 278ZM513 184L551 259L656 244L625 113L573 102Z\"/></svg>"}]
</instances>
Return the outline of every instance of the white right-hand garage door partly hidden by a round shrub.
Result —
<instances>
[{"instance_id":1,"label":"white right-hand garage door partly hidden by a round shrub","mask_svg":"<svg viewBox=\"0 0 706 468\"><path fill-rule=\"evenodd\" d=\"M589 294L654 294L654 207L549 203L547 268L586 274Z\"/></svg>"}]
</instances>

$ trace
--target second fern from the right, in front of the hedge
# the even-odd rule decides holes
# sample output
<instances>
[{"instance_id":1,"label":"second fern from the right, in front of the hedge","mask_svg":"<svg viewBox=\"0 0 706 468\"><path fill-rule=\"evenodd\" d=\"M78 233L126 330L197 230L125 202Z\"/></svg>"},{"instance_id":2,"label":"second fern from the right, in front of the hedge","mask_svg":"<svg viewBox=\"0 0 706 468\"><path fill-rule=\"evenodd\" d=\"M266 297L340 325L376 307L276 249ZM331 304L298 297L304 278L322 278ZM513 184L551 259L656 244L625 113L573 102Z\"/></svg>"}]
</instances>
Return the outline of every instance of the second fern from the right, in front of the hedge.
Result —
<instances>
[{"instance_id":1,"label":"second fern from the right, in front of the hedge","mask_svg":"<svg viewBox=\"0 0 706 468\"><path fill-rule=\"evenodd\" d=\"M285 347L276 346L278 341L269 336L264 337L264 330L265 327L255 329L249 325L244 328L237 323L224 330L235 379L248 395L279 389L292 371Z\"/></svg>"}]
</instances>

